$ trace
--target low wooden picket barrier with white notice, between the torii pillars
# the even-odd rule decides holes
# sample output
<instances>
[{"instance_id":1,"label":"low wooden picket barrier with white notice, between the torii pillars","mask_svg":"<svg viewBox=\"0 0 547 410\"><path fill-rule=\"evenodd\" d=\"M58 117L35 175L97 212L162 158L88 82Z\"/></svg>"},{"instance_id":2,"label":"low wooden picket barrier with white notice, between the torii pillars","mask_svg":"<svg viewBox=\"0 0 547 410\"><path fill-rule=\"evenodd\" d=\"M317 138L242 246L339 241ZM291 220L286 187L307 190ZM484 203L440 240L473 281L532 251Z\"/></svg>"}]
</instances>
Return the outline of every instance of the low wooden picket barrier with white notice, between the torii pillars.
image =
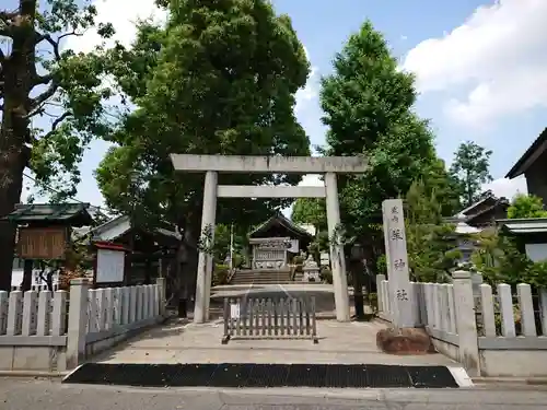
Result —
<instances>
[{"instance_id":1,"label":"low wooden picket barrier with white notice, between the torii pillars","mask_svg":"<svg viewBox=\"0 0 547 410\"><path fill-rule=\"evenodd\" d=\"M315 297L225 297L224 336L230 339L310 339L318 343Z\"/></svg>"}]
</instances>

